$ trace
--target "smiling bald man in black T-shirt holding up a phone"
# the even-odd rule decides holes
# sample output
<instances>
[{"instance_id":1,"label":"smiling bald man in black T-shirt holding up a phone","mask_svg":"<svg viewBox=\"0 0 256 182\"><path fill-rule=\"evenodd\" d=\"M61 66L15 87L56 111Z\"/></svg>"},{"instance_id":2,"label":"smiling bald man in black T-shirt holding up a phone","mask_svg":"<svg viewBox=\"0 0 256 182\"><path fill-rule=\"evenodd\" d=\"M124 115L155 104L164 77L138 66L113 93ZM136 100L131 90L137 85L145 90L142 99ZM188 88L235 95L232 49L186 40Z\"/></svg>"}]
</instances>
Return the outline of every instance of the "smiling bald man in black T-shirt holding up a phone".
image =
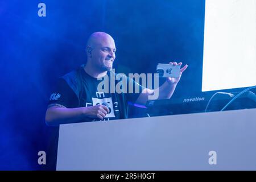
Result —
<instances>
[{"instance_id":1,"label":"smiling bald man in black T-shirt holding up a phone","mask_svg":"<svg viewBox=\"0 0 256 182\"><path fill-rule=\"evenodd\" d=\"M98 92L101 82L98 78L113 74L115 42L105 32L94 32L86 44L87 62L79 69L59 78L55 92L51 94L46 111L46 123L58 126L63 123L100 121L127 118L127 102L146 104L148 96L159 92L158 99L170 98L181 74L188 65L181 68L178 78L167 78L156 90L143 88L141 94L117 94ZM176 62L170 63L177 65ZM181 65L182 63L179 63Z\"/></svg>"}]
</instances>

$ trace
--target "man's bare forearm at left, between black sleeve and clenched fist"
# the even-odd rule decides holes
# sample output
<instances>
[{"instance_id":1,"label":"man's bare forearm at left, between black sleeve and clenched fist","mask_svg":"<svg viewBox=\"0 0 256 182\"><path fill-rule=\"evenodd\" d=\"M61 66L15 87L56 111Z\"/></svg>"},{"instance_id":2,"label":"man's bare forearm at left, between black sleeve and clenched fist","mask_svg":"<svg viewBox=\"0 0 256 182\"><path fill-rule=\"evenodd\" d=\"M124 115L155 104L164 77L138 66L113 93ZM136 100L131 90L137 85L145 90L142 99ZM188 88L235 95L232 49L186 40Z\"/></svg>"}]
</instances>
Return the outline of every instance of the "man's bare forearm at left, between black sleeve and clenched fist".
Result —
<instances>
[{"instance_id":1,"label":"man's bare forearm at left, between black sleeve and clenched fist","mask_svg":"<svg viewBox=\"0 0 256 182\"><path fill-rule=\"evenodd\" d=\"M49 126L58 126L65 123L75 123L85 118L84 107L65 108L49 107L46 111L46 123Z\"/></svg>"}]
</instances>

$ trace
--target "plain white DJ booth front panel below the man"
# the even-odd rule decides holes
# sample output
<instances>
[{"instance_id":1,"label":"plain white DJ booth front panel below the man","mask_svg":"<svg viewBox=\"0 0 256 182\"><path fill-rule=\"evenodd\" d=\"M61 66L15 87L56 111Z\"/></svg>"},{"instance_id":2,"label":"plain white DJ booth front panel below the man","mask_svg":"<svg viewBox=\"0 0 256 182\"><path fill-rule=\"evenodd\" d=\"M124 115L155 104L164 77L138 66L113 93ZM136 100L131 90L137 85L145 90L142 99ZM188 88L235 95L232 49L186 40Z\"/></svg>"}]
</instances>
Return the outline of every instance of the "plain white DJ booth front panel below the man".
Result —
<instances>
[{"instance_id":1,"label":"plain white DJ booth front panel below the man","mask_svg":"<svg viewBox=\"0 0 256 182\"><path fill-rule=\"evenodd\" d=\"M255 118L247 109L61 125L57 170L255 170Z\"/></svg>"}]
</instances>

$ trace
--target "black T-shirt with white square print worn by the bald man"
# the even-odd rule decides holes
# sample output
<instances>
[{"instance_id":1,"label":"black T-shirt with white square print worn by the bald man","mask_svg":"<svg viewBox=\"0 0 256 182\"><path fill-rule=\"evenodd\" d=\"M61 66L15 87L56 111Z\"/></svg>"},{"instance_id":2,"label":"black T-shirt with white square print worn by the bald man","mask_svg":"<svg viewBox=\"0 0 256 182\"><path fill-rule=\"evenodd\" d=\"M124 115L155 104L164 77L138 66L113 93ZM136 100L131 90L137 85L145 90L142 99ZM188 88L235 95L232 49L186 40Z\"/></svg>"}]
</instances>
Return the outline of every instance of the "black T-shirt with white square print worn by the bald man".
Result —
<instances>
[{"instance_id":1,"label":"black T-shirt with white square print worn by the bald man","mask_svg":"<svg viewBox=\"0 0 256 182\"><path fill-rule=\"evenodd\" d=\"M97 87L102 80L97 80L97 78L88 75L88 73L84 71L84 65L82 65L76 71L59 78L57 88L49 98L49 105L60 104L67 108L75 108L89 107L105 102L108 103L110 107L110 113L106 115L104 121L127 118L127 103L134 103L139 94L110 92L110 86L112 84L110 79L114 81L114 85L117 85L118 81L113 80L112 76L115 77L115 73L110 71L107 75L109 82L108 89L106 89L107 92L98 92ZM141 85L128 77L126 77L126 79L127 83L129 83L129 81L133 82L134 88L135 85L139 86L141 92L143 89ZM88 118L81 122L86 121L93 121L93 119Z\"/></svg>"}]
</instances>

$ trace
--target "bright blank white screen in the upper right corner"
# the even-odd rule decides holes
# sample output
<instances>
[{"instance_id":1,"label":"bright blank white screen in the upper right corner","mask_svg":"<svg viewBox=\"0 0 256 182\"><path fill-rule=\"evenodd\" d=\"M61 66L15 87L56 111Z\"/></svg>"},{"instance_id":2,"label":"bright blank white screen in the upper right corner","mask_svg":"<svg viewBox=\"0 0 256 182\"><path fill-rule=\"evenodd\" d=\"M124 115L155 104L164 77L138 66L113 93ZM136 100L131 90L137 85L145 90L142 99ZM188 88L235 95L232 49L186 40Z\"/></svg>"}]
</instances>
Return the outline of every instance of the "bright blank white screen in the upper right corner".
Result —
<instances>
[{"instance_id":1,"label":"bright blank white screen in the upper right corner","mask_svg":"<svg viewBox=\"0 0 256 182\"><path fill-rule=\"evenodd\" d=\"M202 91L256 85L256 0L206 0Z\"/></svg>"}]
</instances>

